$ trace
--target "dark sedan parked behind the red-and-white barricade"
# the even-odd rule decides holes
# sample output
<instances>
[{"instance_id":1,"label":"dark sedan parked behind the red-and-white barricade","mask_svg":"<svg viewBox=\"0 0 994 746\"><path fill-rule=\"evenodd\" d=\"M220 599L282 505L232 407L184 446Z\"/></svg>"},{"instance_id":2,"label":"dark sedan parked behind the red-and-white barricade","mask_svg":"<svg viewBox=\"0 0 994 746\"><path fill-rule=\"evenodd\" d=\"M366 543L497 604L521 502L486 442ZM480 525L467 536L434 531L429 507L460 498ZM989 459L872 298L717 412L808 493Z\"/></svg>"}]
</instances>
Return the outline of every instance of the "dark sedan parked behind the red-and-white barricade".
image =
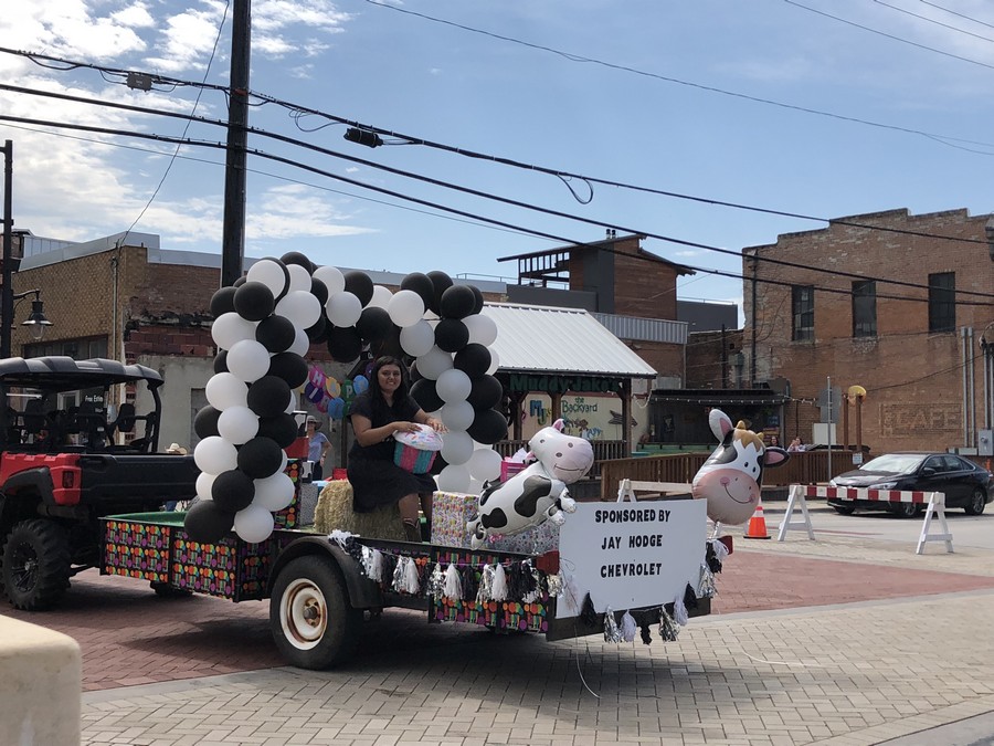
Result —
<instances>
[{"instance_id":1,"label":"dark sedan parked behind the red-and-white barricade","mask_svg":"<svg viewBox=\"0 0 994 746\"><path fill-rule=\"evenodd\" d=\"M994 500L994 475L972 461L953 453L885 453L870 459L859 469L839 474L833 487L901 490L945 493L947 507L962 507L967 515L980 515ZM921 504L888 503L874 500L829 497L828 504L843 515L857 508L890 511L912 518L923 509Z\"/></svg>"}]
</instances>

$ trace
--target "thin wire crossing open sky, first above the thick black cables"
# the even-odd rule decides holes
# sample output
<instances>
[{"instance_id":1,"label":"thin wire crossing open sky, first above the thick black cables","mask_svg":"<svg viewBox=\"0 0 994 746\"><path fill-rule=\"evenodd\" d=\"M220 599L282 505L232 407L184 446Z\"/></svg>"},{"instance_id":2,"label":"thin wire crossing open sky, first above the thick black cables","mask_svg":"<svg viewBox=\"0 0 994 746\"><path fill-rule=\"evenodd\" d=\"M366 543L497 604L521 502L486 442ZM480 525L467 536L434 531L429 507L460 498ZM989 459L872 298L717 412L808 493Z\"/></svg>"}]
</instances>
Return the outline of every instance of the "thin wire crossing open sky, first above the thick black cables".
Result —
<instances>
[{"instance_id":1,"label":"thin wire crossing open sky, first above the thick black cables","mask_svg":"<svg viewBox=\"0 0 994 746\"><path fill-rule=\"evenodd\" d=\"M421 18L421 19L424 19L424 20L426 20L426 21L432 21L433 23L441 23L441 24L443 24L443 25L450 25L450 27L453 27L453 28L455 28L455 29L461 29L461 30L463 30L463 31L468 31L468 32L470 32L470 33L480 34L480 35L484 35L484 36L490 36L490 38L493 38L493 39L499 39L500 41L510 42L510 43L512 43L512 44L519 44L519 45L521 45L521 46L527 46L527 48L529 48L529 49L539 50L539 51L542 51L542 52L549 52L549 53L551 53L551 54L556 54L556 55L561 56L561 57L563 57L563 59L565 59L565 60L569 60L570 62L585 62L585 63L591 63L591 64L595 64L595 65L601 65L601 66L603 66L603 67L609 67L609 69L611 69L611 70L617 70L617 71L621 71L621 72L632 73L632 74L634 74L634 75L642 75L642 76L644 76L644 77L656 78L656 80L659 80L659 81L664 81L664 82L666 82L666 83L675 83L675 84L677 84L677 85L685 85L685 86L688 86L688 87L691 87L691 88L697 88L697 90L700 90L700 91L707 91L707 92L709 92L709 93L718 93L718 94L721 94L721 95L723 95L723 96L732 96L732 97L734 97L734 98L742 98L742 99L744 99L744 101L751 101L751 102L757 103L757 104L766 104L766 105L769 105L769 106L778 106L778 107L780 107L780 108L786 108L786 109L791 109L791 111L794 111L794 112L802 112L802 113L804 113L804 114L814 114L814 115L816 115L816 116L824 116L824 117L828 117L828 118L832 118L832 119L839 119L839 120L842 120L842 122L852 122L852 123L854 123L854 124L861 124L861 125L866 125L866 126L869 126L869 127L878 127L878 128L880 128L880 129L891 129L891 130L895 130L895 132L906 133L906 134L908 134L908 135L919 135L919 136L921 136L921 137L927 137L927 138L929 138L929 139L931 139L931 140L934 140L934 141L937 141L937 143L941 143L942 145L947 145L947 146L952 147L952 148L959 148L959 149L962 149L962 150L967 150L967 151L970 151L970 153L979 153L979 154L981 154L981 155L994 155L994 154L983 153L983 151L980 151L980 150L973 150L973 149L971 149L971 148L964 148L964 147L962 147L962 146L954 145L954 143L965 143L965 144L967 144L967 145L979 145L979 146L982 146L982 147L988 147L988 148L990 148L990 147L994 147L994 144L991 144L991 143L980 143L980 141L975 141L975 140L963 139L963 138L960 138L960 137L950 137L950 136L947 136L947 135L935 135L935 134L933 134L933 133L928 133L928 132L924 132L924 130L921 130L921 129L912 129L912 128L910 128L910 127L901 127L901 126L898 126L898 125L889 125L889 124L882 124L882 123L879 123L879 122L871 122L871 120L869 120L869 119L861 119L861 118L859 118L859 117L846 116L846 115L843 115L843 114L834 114L834 113L832 113L832 112L825 112L825 111L821 111L821 109L816 109L816 108L810 108L810 107L806 107L806 106L797 106L797 105L795 105L795 104L785 104L785 103L783 103L783 102L774 101L774 99L772 99L772 98L762 98L762 97L760 97L760 96L751 96L751 95L749 95L749 94L738 93L738 92L736 92L736 91L727 91L727 90L725 90L725 88L719 88L719 87L711 86L711 85L704 85L704 84L701 84L701 83L692 83L692 82L690 82L690 81L684 81L684 80L680 80L680 78L678 78L678 77L670 77L670 76L667 76L667 75L659 75L658 73L649 73L649 72L646 72L646 71L644 71L644 70L638 70L637 67L630 67L630 66L627 66L627 65L620 65L620 64L615 64L615 63L613 63L613 62L605 62L604 60L598 60L598 59L594 59L594 57L588 57L588 56L583 56L583 55L580 55L580 54L573 54L573 53L570 53L570 52L563 52L563 51L561 51L561 50L557 50L557 49L553 49L553 48L551 48L551 46L544 46L544 45L542 45L542 44L535 44L535 43L531 43L531 42L526 42L526 41L522 41L522 40L520 40L520 39L516 39L516 38L514 38L514 36L506 36L506 35L504 35L504 34L494 33L494 32L491 32L491 31L484 31L484 30L482 30L482 29L476 29L476 28L473 28L473 27L470 27L470 25L465 25L465 24L463 24L463 23L455 23L454 21L448 21L448 20L445 20L445 19L435 18L435 17L429 15L429 14L426 14L426 13L419 13L419 12L416 12L416 11L408 10L406 8L401 8L401 7L395 6L395 4L388 4L388 3L385 3L385 2L380 2L379 0L364 0L364 2L368 2L368 3L371 4L371 6L377 6L378 8L383 8L383 9L385 9L385 10L392 10L392 11L398 12L398 13L404 13L404 14L406 14L406 15L414 15L414 17L416 17L416 18Z\"/></svg>"}]
</instances>

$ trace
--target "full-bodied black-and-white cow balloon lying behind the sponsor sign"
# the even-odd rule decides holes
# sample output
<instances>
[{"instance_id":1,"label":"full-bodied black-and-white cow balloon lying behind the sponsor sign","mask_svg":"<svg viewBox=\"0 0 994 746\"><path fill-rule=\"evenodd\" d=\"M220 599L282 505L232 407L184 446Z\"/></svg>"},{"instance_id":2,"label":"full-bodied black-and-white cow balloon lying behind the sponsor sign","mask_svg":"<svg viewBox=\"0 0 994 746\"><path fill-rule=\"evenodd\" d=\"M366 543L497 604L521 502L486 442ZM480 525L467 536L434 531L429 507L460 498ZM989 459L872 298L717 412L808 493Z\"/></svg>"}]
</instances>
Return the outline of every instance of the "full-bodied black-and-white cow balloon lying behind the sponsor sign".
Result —
<instances>
[{"instance_id":1,"label":"full-bodied black-and-white cow balloon lying behind the sponsor sign","mask_svg":"<svg viewBox=\"0 0 994 746\"><path fill-rule=\"evenodd\" d=\"M593 446L583 438L563 433L562 424L562 420L557 420L528 441L535 463L506 482L484 484L479 514L466 524L474 549L479 549L488 536L520 534L547 519L561 524L563 511L577 509L567 485L590 471Z\"/></svg>"}]
</instances>

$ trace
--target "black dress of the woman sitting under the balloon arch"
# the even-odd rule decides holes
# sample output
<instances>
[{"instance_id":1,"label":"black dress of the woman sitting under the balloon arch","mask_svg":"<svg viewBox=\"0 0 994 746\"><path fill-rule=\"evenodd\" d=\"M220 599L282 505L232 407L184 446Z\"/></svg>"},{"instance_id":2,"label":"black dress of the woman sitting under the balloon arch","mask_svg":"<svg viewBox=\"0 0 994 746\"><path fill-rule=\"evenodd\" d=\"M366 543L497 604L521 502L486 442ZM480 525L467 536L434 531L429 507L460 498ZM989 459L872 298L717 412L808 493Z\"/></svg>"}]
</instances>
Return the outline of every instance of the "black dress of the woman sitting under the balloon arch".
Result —
<instances>
[{"instance_id":1,"label":"black dress of the woman sitting under the balloon arch","mask_svg":"<svg viewBox=\"0 0 994 746\"><path fill-rule=\"evenodd\" d=\"M413 422L421 409L410 396L388 407L382 397L373 401L363 393L352 401L349 417L369 418L373 428L382 428L398 420ZM349 450L349 482L352 485L352 509L370 513L378 507L392 505L411 494L430 495L435 491L435 480L430 474L412 474L393 463L396 441L388 438L380 443L362 446L357 440Z\"/></svg>"}]
</instances>

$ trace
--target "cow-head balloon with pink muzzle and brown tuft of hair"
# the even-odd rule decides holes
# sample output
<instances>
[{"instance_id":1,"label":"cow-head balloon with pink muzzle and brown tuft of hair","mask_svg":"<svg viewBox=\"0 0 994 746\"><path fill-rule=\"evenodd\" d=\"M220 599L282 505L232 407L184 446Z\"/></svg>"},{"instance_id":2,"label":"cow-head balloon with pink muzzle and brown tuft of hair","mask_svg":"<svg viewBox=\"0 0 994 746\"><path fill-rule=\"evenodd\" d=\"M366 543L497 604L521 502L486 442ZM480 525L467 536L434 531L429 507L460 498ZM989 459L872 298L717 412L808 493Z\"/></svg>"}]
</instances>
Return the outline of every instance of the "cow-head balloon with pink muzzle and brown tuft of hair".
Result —
<instances>
[{"instance_id":1,"label":"cow-head balloon with pink muzzle and brown tuft of hair","mask_svg":"<svg viewBox=\"0 0 994 746\"><path fill-rule=\"evenodd\" d=\"M708 423L721 444L694 476L690 494L708 501L708 517L715 523L745 523L759 504L763 467L780 466L790 455L766 448L743 422L732 427L720 409L711 410Z\"/></svg>"}]
</instances>

